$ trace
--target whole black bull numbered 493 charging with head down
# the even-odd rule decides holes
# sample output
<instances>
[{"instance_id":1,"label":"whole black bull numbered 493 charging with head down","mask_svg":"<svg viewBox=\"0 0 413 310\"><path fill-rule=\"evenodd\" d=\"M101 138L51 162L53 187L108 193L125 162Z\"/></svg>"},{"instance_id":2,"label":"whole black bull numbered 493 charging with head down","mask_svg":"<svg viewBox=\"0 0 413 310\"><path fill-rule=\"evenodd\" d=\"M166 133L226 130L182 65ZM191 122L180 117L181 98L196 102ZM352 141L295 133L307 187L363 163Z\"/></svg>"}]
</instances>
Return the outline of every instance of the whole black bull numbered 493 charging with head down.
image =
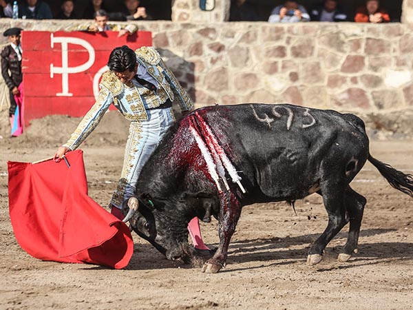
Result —
<instances>
[{"instance_id":1,"label":"whole black bull numbered 493 charging with head down","mask_svg":"<svg viewBox=\"0 0 413 310\"><path fill-rule=\"evenodd\" d=\"M168 259L189 260L189 220L215 216L220 245L202 268L215 273L225 265L242 206L317 193L328 225L310 247L308 264L317 264L328 242L350 222L338 256L346 261L357 252L366 205L350 182L367 160L392 187L413 197L413 176L370 155L364 123L353 114L295 105L204 107L162 139L142 169L125 221Z\"/></svg>"}]
</instances>

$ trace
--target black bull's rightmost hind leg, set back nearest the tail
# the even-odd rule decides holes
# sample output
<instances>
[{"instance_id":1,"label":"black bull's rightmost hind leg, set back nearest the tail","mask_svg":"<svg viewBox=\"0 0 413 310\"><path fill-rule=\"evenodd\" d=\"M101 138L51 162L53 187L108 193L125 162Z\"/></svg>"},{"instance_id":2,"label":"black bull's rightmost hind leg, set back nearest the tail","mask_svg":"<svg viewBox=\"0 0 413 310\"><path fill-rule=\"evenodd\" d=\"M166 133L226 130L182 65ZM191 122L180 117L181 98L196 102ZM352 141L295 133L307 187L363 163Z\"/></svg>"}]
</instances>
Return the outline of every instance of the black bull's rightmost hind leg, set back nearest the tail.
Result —
<instances>
[{"instance_id":1,"label":"black bull's rightmost hind leg, set back nearest the tail","mask_svg":"<svg viewBox=\"0 0 413 310\"><path fill-rule=\"evenodd\" d=\"M349 186L346 189L346 209L350 217L350 229L348 231L348 238L346 245L344 245L339 257L339 262L346 262L352 256L352 253L357 252L357 244L359 242L359 233L361 227L361 219L363 218L364 206L366 205L366 198Z\"/></svg>"}]
</instances>

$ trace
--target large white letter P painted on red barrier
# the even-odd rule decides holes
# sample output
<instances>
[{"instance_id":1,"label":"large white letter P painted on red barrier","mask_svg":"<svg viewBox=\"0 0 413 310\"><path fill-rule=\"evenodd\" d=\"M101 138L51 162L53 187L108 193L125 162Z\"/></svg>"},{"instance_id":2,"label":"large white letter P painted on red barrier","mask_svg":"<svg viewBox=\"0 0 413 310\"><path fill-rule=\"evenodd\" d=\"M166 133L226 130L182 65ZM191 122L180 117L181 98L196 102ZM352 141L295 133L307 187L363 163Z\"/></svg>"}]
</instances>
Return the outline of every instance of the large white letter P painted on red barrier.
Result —
<instances>
[{"instance_id":1,"label":"large white letter P painted on red barrier","mask_svg":"<svg viewBox=\"0 0 413 310\"><path fill-rule=\"evenodd\" d=\"M54 37L53 34L50 35L50 43L52 45L52 48L54 46L54 43L61 43L62 45L62 66L55 67L53 63L50 64L50 78L53 79L55 73L62 74L62 92L56 93L56 96L73 96L73 94L69 92L69 74L84 72L92 67L95 61L94 48L89 42L83 39L74 37ZM89 59L82 65L69 67L69 57L67 50L68 43L81 45L83 48L85 48L89 53Z\"/></svg>"}]
</instances>

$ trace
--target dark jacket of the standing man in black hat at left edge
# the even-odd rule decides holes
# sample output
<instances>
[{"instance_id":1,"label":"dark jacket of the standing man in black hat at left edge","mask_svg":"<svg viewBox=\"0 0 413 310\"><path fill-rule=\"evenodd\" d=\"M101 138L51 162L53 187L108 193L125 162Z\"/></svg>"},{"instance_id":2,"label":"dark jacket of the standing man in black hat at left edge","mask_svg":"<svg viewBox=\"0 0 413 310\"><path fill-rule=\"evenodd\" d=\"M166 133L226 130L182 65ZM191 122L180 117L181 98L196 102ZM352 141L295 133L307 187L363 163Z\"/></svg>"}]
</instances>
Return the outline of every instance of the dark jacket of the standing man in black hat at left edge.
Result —
<instances>
[{"instance_id":1,"label":"dark jacket of the standing man in black hat at left edge","mask_svg":"<svg viewBox=\"0 0 413 310\"><path fill-rule=\"evenodd\" d=\"M1 51L1 75L10 90L18 87L23 79L23 75L21 74L21 61L19 61L12 45L7 45Z\"/></svg>"}]
</instances>

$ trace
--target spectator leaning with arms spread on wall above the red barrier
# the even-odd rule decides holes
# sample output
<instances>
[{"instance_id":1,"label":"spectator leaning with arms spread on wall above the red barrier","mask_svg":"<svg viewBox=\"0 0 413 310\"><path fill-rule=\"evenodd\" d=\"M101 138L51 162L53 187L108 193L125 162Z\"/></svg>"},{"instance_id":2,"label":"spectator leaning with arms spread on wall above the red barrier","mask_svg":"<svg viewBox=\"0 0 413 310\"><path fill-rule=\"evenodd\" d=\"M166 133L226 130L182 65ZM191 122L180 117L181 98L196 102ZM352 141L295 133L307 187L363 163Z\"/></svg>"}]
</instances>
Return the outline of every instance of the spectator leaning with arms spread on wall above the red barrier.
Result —
<instances>
[{"instance_id":1,"label":"spectator leaning with arms spread on wall above the red barrier","mask_svg":"<svg viewBox=\"0 0 413 310\"><path fill-rule=\"evenodd\" d=\"M117 25L114 23L107 23L109 21L109 16L105 10L98 10L95 12L94 22L85 23L83 25L78 25L74 28L70 28L72 31L90 31L90 32L100 32L100 31L118 31L119 37L125 34L133 34L138 30L136 25Z\"/></svg>"}]
</instances>

